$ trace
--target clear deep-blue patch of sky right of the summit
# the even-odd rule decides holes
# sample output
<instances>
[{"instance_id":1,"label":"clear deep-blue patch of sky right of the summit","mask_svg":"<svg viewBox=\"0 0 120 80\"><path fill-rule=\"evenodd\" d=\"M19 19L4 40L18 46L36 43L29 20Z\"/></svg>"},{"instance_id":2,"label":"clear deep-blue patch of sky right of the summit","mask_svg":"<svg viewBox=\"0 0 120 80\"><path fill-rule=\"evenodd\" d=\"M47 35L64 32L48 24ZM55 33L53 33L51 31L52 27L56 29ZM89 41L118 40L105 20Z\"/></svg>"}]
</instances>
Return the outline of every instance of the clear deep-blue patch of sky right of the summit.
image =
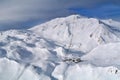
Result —
<instances>
[{"instance_id":1,"label":"clear deep-blue patch of sky right of the summit","mask_svg":"<svg viewBox=\"0 0 120 80\"><path fill-rule=\"evenodd\" d=\"M93 8L70 8L70 10L83 16L120 20L120 6L118 5L106 4Z\"/></svg>"}]
</instances>

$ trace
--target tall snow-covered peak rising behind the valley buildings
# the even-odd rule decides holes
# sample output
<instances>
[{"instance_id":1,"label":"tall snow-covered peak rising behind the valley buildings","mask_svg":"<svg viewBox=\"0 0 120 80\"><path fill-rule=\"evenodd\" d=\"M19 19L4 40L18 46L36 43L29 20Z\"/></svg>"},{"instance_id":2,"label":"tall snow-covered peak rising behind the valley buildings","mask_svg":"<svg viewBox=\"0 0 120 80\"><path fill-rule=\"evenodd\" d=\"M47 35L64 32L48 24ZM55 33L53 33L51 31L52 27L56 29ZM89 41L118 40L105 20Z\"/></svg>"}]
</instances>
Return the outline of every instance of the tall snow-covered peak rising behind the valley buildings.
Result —
<instances>
[{"instance_id":1,"label":"tall snow-covered peak rising behind the valley buildings","mask_svg":"<svg viewBox=\"0 0 120 80\"><path fill-rule=\"evenodd\" d=\"M98 45L120 41L120 35L115 34L116 31L112 29L114 26L104 22L106 21L72 15L53 19L30 30L47 39L59 42L65 47L70 44L72 39L72 48L86 53Z\"/></svg>"}]
</instances>

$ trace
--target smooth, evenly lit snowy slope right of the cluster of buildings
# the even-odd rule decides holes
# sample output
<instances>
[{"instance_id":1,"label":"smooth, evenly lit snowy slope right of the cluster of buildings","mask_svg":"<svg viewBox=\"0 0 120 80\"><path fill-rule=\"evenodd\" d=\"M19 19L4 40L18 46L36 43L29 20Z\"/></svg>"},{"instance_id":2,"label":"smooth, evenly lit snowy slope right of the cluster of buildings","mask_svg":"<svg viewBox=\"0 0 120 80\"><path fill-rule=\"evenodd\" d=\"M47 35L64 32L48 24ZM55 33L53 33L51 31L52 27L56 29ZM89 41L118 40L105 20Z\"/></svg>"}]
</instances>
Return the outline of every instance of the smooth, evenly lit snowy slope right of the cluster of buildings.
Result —
<instances>
[{"instance_id":1,"label":"smooth, evenly lit snowy slope right of the cluster of buildings","mask_svg":"<svg viewBox=\"0 0 120 80\"><path fill-rule=\"evenodd\" d=\"M82 57L96 66L116 66L120 68L120 42L100 45Z\"/></svg>"}]
</instances>

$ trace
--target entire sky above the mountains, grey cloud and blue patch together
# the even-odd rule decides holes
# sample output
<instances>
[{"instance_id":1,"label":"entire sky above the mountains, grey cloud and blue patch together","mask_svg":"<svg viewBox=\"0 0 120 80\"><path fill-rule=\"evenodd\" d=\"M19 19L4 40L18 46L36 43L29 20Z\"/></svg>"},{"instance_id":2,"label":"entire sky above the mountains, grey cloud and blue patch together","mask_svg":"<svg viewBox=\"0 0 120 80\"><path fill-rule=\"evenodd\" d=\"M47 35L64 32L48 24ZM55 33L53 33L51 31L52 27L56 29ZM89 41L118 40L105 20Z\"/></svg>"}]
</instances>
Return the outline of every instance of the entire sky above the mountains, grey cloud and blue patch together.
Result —
<instances>
[{"instance_id":1,"label":"entire sky above the mountains, grey cloud and blue patch together","mask_svg":"<svg viewBox=\"0 0 120 80\"><path fill-rule=\"evenodd\" d=\"M120 0L0 0L0 30L27 29L72 14L120 21Z\"/></svg>"}]
</instances>

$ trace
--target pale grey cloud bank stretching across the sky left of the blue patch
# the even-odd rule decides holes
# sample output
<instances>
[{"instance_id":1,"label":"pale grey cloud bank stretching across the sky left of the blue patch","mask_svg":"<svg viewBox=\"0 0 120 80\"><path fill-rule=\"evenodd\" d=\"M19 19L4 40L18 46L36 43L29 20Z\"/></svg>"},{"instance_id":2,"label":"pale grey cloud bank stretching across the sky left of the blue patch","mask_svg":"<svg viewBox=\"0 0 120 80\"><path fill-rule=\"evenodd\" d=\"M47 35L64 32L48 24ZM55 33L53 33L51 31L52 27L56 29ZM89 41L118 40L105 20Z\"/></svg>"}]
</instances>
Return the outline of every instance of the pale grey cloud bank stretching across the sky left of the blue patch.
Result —
<instances>
[{"instance_id":1,"label":"pale grey cloud bank stretching across the sky left of the blue patch","mask_svg":"<svg viewBox=\"0 0 120 80\"><path fill-rule=\"evenodd\" d=\"M71 7L93 7L109 0L0 0L0 25L72 14ZM117 0L111 0L113 2Z\"/></svg>"}]
</instances>

